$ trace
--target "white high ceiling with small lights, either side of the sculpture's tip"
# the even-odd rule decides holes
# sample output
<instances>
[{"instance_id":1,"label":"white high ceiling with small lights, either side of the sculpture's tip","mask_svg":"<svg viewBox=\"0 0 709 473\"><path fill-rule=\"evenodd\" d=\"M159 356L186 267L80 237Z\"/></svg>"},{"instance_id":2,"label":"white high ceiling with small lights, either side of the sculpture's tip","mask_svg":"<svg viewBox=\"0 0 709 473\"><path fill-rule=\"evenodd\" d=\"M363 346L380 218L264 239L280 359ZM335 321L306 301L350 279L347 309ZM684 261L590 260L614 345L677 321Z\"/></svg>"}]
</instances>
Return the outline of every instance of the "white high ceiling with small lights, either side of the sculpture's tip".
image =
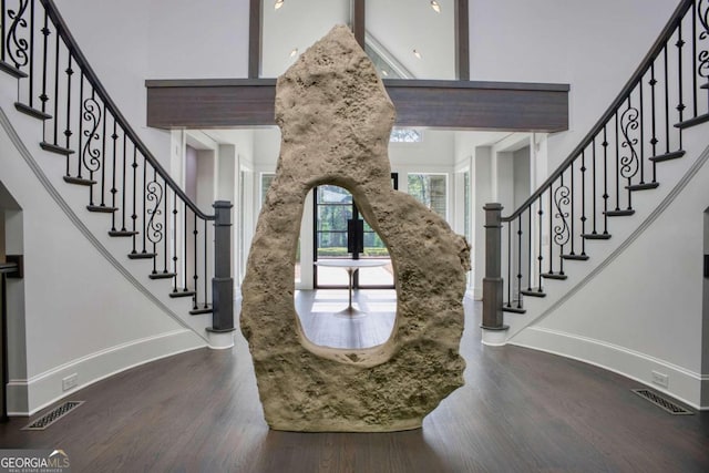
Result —
<instances>
[{"instance_id":1,"label":"white high ceiling with small lights, either side of the sculpture's tip","mask_svg":"<svg viewBox=\"0 0 709 473\"><path fill-rule=\"evenodd\" d=\"M350 0L263 0L261 76L275 78L336 24L350 24ZM454 0L368 0L366 28L412 79L455 79ZM297 52L291 55L291 52ZM414 55L414 50L419 56Z\"/></svg>"}]
</instances>

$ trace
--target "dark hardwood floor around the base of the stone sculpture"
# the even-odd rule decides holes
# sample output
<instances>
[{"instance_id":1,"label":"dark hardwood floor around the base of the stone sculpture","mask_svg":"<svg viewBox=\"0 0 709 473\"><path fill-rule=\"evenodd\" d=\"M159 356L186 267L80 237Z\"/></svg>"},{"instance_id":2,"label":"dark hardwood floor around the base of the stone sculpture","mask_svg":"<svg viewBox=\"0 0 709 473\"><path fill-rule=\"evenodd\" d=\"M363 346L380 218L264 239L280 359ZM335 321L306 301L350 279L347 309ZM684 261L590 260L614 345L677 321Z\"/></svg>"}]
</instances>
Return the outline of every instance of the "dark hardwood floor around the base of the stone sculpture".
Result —
<instances>
[{"instance_id":1,"label":"dark hardwood floor around the base of the stone sculpture","mask_svg":"<svg viewBox=\"0 0 709 473\"><path fill-rule=\"evenodd\" d=\"M398 433L269 431L240 333L71 394L45 431L0 424L3 449L63 449L72 472L709 472L709 412L670 415L602 369L480 342L466 316L466 384ZM33 417L37 418L43 412Z\"/></svg>"}]
</instances>

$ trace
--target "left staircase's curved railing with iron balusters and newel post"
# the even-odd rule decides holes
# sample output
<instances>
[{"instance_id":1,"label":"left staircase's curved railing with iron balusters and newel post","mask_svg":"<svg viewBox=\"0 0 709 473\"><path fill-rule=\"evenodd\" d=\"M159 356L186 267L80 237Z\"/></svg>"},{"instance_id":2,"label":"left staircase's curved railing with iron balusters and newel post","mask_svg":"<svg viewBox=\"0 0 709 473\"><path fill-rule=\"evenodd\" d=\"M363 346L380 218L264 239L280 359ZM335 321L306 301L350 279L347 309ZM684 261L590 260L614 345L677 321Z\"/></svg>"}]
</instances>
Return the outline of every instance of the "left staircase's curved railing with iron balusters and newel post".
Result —
<instances>
[{"instance_id":1,"label":"left staircase's curved railing with iron balusters and newel post","mask_svg":"<svg viewBox=\"0 0 709 473\"><path fill-rule=\"evenodd\" d=\"M210 331L234 329L230 203L206 214L172 179L111 100L52 0L1 0L0 70L18 79L18 111L43 122L41 147L64 156L64 181L88 192L86 209L110 215L109 235L130 259L152 261L169 297Z\"/></svg>"}]
</instances>

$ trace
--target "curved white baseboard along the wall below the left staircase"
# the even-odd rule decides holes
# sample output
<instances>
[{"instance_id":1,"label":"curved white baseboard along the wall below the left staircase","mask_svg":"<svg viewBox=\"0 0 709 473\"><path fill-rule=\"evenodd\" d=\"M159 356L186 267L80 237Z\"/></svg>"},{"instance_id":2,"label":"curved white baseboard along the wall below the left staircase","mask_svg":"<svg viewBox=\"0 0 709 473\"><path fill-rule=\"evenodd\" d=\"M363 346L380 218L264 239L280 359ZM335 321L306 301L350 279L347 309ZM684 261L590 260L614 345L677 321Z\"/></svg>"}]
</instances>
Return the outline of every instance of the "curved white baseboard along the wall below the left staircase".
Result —
<instances>
[{"instance_id":1,"label":"curved white baseboard along the wall below the left staircase","mask_svg":"<svg viewBox=\"0 0 709 473\"><path fill-rule=\"evenodd\" d=\"M204 339L194 331L179 329L91 353L28 380L10 380L8 412L10 415L32 415L58 400L121 371L204 347ZM63 391L62 380L74 373L78 377L76 387ZM81 398L81 393L76 393L76 398Z\"/></svg>"}]
</instances>

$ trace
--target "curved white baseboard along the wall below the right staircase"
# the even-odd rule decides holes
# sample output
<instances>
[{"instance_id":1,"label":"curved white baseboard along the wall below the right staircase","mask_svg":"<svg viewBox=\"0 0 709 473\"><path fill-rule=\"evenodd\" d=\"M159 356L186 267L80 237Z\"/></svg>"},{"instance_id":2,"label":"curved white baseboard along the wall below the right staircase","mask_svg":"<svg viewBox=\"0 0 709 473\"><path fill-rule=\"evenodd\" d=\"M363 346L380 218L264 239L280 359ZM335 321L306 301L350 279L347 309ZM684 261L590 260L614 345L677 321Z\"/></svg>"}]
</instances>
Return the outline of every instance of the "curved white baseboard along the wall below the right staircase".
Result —
<instances>
[{"instance_id":1,"label":"curved white baseboard along the wall below the right staircase","mask_svg":"<svg viewBox=\"0 0 709 473\"><path fill-rule=\"evenodd\" d=\"M625 347L542 327L527 327L510 345L545 351L604 368L666 393L697 410L709 410L709 376ZM669 377L668 387L653 382L653 371ZM702 399L702 384L705 395Z\"/></svg>"}]
</instances>

